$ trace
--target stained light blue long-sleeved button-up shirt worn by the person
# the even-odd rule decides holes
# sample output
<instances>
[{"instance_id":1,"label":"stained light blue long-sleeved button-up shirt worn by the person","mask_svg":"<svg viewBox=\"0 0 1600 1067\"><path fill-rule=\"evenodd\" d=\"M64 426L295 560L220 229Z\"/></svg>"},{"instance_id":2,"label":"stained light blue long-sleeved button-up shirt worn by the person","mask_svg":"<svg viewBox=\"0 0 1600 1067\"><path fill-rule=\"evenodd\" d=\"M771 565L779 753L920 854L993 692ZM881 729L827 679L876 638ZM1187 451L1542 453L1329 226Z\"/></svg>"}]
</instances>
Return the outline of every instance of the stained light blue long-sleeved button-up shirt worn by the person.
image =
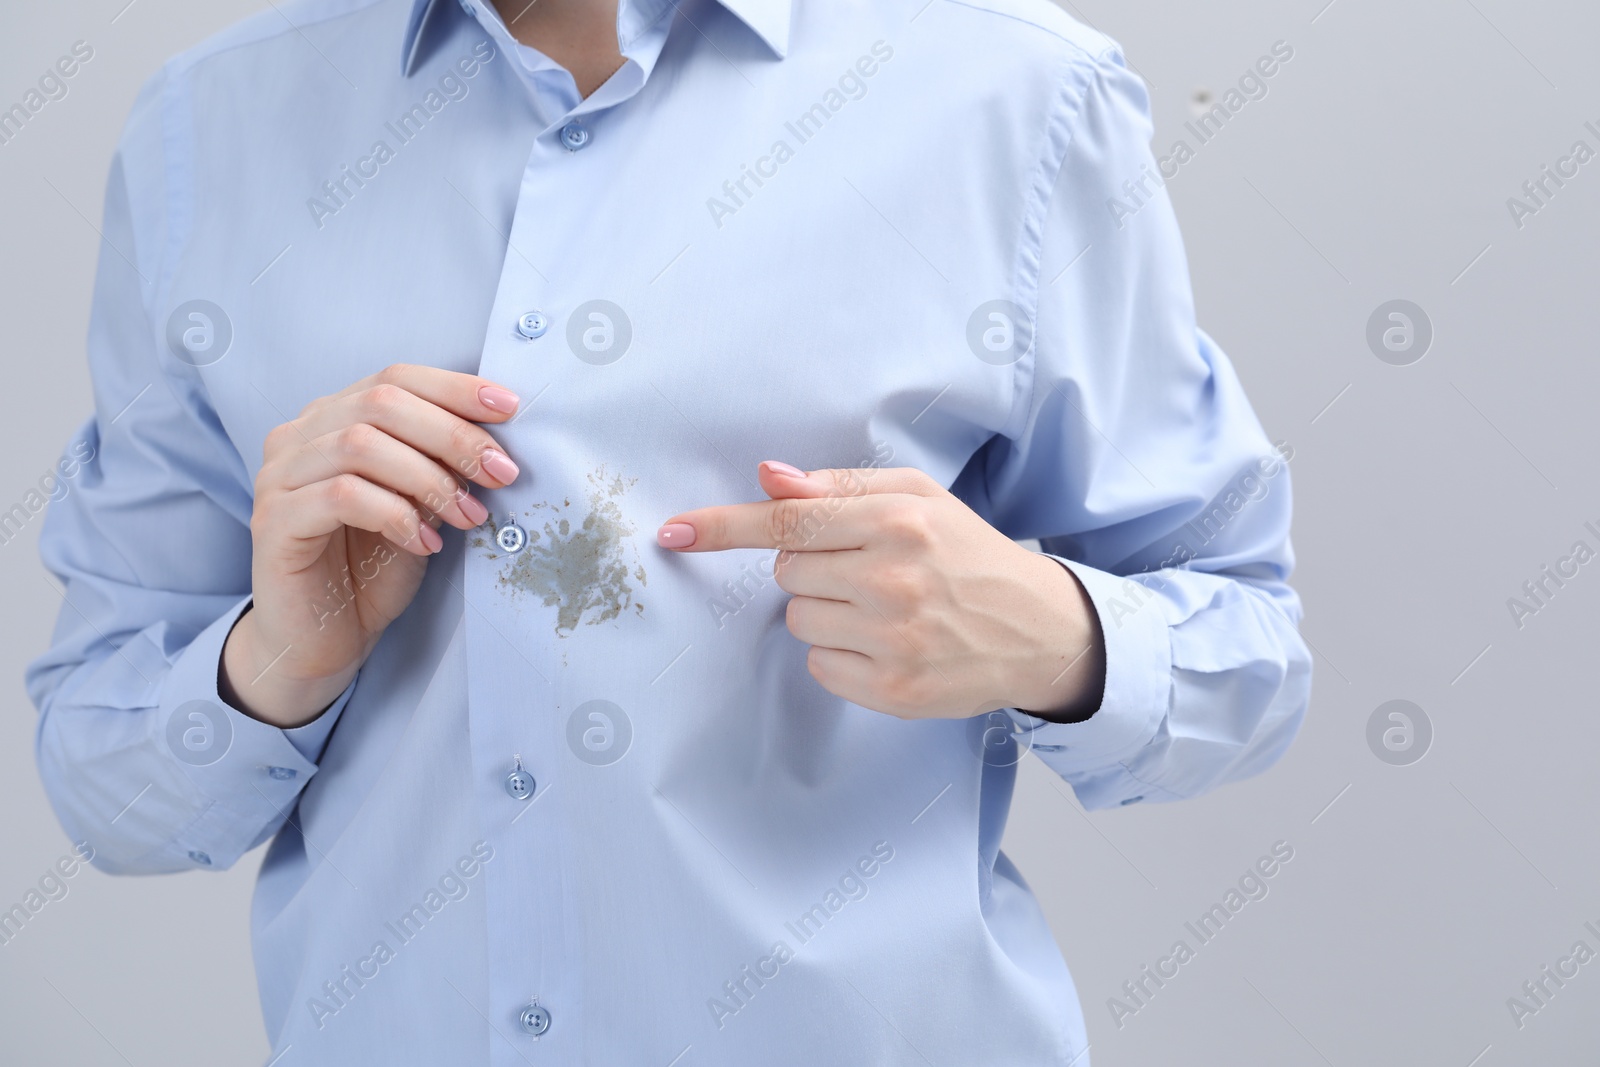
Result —
<instances>
[{"instance_id":1,"label":"stained light blue long-sleeved button-up shirt worn by the person","mask_svg":"<svg viewBox=\"0 0 1600 1067\"><path fill-rule=\"evenodd\" d=\"M1283 752L1310 677L1293 450L1195 328L1158 186L1112 203L1154 170L1141 82L1043 0L646 0L579 99L472 3L277 5L133 109L42 536L62 824L126 873L270 841L282 1067L1086 1064L998 851L1016 761L1194 797ZM262 438L395 362L518 392L525 474L280 731L218 696ZM654 544L763 499L762 459L918 467L1040 539L1104 704L819 688L771 553Z\"/></svg>"}]
</instances>

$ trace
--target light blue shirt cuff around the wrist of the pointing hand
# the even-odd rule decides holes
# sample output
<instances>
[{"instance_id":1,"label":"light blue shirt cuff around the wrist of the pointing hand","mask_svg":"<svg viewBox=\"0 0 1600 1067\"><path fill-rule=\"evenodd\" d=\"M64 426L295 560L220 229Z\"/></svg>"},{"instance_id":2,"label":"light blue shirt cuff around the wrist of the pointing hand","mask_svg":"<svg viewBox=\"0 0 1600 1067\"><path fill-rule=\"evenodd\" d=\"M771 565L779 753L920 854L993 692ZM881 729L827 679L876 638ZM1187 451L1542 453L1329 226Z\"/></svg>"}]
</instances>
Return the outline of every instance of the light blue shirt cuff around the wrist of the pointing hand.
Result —
<instances>
[{"instance_id":1,"label":"light blue shirt cuff around the wrist of the pointing hand","mask_svg":"<svg viewBox=\"0 0 1600 1067\"><path fill-rule=\"evenodd\" d=\"M1131 758L1166 718L1173 689L1166 600L1158 592L1160 574L1123 577L1059 555L1050 558L1072 571L1099 614L1106 693L1094 713L1080 723L1006 710L1026 733L1029 747L1051 753L1051 768L1064 776L1086 774Z\"/></svg>"}]
</instances>

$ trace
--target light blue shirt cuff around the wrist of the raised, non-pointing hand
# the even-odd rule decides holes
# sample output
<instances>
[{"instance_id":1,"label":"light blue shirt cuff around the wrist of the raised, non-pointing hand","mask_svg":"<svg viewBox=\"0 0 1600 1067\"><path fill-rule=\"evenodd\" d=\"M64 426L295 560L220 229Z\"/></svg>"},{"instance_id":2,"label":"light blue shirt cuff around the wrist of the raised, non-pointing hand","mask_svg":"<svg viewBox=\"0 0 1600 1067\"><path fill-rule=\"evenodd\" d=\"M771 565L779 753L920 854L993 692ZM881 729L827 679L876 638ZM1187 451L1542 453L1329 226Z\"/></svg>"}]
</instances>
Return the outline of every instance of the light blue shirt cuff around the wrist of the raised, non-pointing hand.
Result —
<instances>
[{"instance_id":1,"label":"light blue shirt cuff around the wrist of the raised, non-pointing hand","mask_svg":"<svg viewBox=\"0 0 1600 1067\"><path fill-rule=\"evenodd\" d=\"M174 843L197 867L227 867L250 849L259 827L288 816L317 758L355 691L352 680L322 715L293 729L245 715L222 699L218 673L222 646L250 608L245 597L179 654L162 686L157 729L166 753L210 800L202 817Z\"/></svg>"}]
</instances>

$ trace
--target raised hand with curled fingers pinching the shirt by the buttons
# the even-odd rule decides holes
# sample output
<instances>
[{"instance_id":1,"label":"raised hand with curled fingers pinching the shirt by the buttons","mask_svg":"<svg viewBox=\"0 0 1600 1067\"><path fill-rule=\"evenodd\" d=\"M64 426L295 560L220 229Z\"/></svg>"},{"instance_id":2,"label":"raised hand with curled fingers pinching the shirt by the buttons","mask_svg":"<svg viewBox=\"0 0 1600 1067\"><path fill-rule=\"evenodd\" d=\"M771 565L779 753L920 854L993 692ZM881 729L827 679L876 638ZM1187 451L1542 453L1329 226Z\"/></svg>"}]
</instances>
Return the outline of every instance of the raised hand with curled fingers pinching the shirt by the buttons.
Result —
<instances>
[{"instance_id":1,"label":"raised hand with curled fingers pinching the shirt by the buttons","mask_svg":"<svg viewBox=\"0 0 1600 1067\"><path fill-rule=\"evenodd\" d=\"M349 686L422 584L442 523L470 530L517 466L477 422L517 397L477 374L395 363L267 434L250 533L253 605L222 649L221 694L299 726Z\"/></svg>"}]
</instances>

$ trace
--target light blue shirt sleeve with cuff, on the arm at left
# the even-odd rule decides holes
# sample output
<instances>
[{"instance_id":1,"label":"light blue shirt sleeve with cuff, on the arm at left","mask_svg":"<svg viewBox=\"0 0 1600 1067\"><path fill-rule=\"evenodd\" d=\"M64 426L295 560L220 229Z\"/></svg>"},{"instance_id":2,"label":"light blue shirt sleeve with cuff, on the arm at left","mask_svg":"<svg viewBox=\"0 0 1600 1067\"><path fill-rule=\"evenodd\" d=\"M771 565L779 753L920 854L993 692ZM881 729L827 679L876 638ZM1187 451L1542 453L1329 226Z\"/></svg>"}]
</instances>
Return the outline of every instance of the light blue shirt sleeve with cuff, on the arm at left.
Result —
<instances>
[{"instance_id":1,"label":"light blue shirt sleeve with cuff, on the arm at left","mask_svg":"<svg viewBox=\"0 0 1600 1067\"><path fill-rule=\"evenodd\" d=\"M26 677L45 792L94 865L118 873L222 869L267 840L355 688L291 731L218 691L222 645L250 608L251 483L150 307L173 184L162 98L157 77L110 168L88 334L94 414L54 472L40 555L61 603Z\"/></svg>"}]
</instances>

